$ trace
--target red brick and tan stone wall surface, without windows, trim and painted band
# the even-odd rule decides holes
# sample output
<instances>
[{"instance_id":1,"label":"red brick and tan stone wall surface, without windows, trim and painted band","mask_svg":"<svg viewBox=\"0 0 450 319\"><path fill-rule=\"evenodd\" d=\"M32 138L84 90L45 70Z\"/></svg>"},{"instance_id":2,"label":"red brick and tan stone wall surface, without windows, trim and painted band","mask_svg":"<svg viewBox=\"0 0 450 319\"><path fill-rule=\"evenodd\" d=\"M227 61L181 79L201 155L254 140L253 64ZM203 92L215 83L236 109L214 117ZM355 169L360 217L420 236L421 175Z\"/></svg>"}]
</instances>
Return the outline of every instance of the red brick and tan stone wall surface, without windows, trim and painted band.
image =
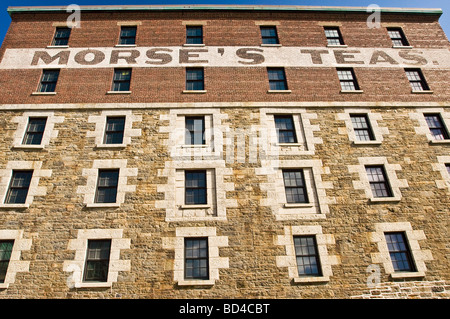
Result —
<instances>
[{"instance_id":1,"label":"red brick and tan stone wall surface, without windows, trim and painted band","mask_svg":"<svg viewBox=\"0 0 450 319\"><path fill-rule=\"evenodd\" d=\"M14 15L0 57L6 48L45 48L53 36L52 22L65 18ZM338 21L349 47L391 47L385 31L365 28L366 17L361 15L230 12L86 14L82 28L73 32L70 46L114 46L118 20L143 21L137 38L140 46L178 46L185 35L181 21L196 19L208 23L207 45L259 46L254 20L277 20L281 22L280 41L285 46L323 47L325 38L317 22ZM410 15L387 15L385 19L402 23L416 48L449 46L434 17L424 16L418 21ZM32 240L31 249L21 255L21 260L30 261L29 270L17 272L15 282L0 289L0 298L449 298L450 196L449 189L436 186L442 176L432 167L438 156L448 156L449 144L430 144L425 135L415 131L418 124L410 115L415 112L414 105L422 102L449 112L449 70L424 70L434 91L427 95L411 94L404 71L395 68L358 68L364 94L352 95L339 93L332 68L288 68L290 94L267 93L265 68L240 67L205 68L207 93L195 95L182 94L184 68L135 68L131 95L106 95L112 72L112 68L63 69L57 95L31 96L40 70L0 70L0 169L11 161L42 161L43 169L52 170L51 177L42 177L39 182L46 187L46 195L35 196L29 208L0 208L0 230L23 229L24 238ZM328 103L336 101L361 102L380 114L378 125L389 130L381 145L352 145L348 134L343 133L344 121L336 118L345 112L345 106ZM169 102L181 109L198 105L189 103L206 102L227 116L222 120L224 128L242 132L268 125L260 120L264 107L279 107L277 102L311 102L305 109L317 115L310 121L318 126L314 137L322 143L315 145L313 155L283 155L280 159L322 161L329 170L321 176L322 181L332 185L326 195L335 199L328 205L326 218L276 219L269 206L261 205L261 200L268 198L263 185L269 179L257 173L263 162L259 157L252 162L247 151L244 161L239 161L235 153L234 160L225 164L233 172L225 177L225 183L234 185L233 190L226 191L226 198L237 201L236 207L227 208L226 221L166 221L166 212L157 202L167 194L158 191L158 185L168 183L161 171L174 159L170 156L169 133L160 130L169 125L164 116L170 109L158 103ZM214 102L222 104L217 107ZM379 106L378 102L390 104ZM68 103L72 105L68 107ZM95 109L95 103L103 104ZM119 107L118 103L133 115L142 116L133 124L141 135L132 137L131 144L123 149L98 149L95 138L88 137L88 132L95 130L95 123L88 118L100 115L102 108ZM142 108L133 103L150 104ZM224 106L226 103L230 106ZM11 104L22 106L10 108ZM12 148L17 129L13 118L30 105L36 107L34 104L64 117L63 122L55 124L58 136L42 150ZM248 136L244 138L248 150ZM349 166L358 165L358 157L386 157L389 163L401 166L397 178L407 180L408 186L401 188L399 202L371 203L363 190L354 187L358 176L349 172ZM83 169L91 168L94 160L111 158L127 159L127 168L138 168L138 175L127 181L136 185L136 190L127 192L118 208L87 208L83 194L77 192L87 182ZM370 234L376 223L395 222L409 222L413 230L424 232L426 239L419 241L420 248L431 251L432 260L426 261L423 278L405 281L391 279L381 266L380 284L369 288L366 270L373 264L372 254L378 253ZM333 275L326 283L295 284L287 268L277 266L277 256L285 256L286 251L276 244L276 238L285 235L286 226L318 225L323 234L333 236L327 253L337 256L339 263L331 266ZM179 227L215 227L217 236L227 237L228 245L219 248L219 255L228 258L229 267L219 269L220 278L213 286L180 287L174 282L175 252L164 247L164 239L175 237ZM119 271L112 287L68 285L70 273L64 271L64 264L75 257L68 244L77 238L78 230L84 229L123 229L123 238L131 241L129 249L120 251L120 259L130 260L131 268Z\"/></svg>"}]
</instances>

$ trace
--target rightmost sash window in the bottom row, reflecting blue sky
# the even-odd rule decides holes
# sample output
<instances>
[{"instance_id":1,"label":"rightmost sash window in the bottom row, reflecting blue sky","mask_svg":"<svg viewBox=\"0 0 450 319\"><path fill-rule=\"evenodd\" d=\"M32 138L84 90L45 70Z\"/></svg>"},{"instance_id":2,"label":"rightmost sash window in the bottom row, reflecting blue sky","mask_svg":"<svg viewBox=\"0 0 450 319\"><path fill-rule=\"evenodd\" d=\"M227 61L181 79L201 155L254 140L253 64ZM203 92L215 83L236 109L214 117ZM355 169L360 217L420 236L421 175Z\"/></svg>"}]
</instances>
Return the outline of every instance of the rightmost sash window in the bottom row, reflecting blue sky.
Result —
<instances>
[{"instance_id":1,"label":"rightmost sash window in the bottom row, reflecting blue sky","mask_svg":"<svg viewBox=\"0 0 450 319\"><path fill-rule=\"evenodd\" d=\"M411 251L403 232L385 233L386 243L394 271L416 271Z\"/></svg>"}]
</instances>

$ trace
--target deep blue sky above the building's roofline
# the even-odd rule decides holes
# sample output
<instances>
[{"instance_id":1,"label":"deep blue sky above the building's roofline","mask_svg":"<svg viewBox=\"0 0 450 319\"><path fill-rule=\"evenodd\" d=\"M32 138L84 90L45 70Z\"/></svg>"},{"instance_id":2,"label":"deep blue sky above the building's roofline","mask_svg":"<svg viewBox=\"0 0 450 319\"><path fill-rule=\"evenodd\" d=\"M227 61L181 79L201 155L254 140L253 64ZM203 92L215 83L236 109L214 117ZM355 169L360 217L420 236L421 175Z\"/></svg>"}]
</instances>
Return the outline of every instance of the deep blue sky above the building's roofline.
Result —
<instances>
[{"instance_id":1,"label":"deep blue sky above the building's roofline","mask_svg":"<svg viewBox=\"0 0 450 319\"><path fill-rule=\"evenodd\" d=\"M9 6L67 6L77 5L150 5L150 4L246 4L246 5L313 5L313 6L356 6L366 7L377 4L380 7L402 7L402 8L441 8L444 14L440 23L447 38L450 37L450 0L255 0L255 1L152 1L152 0L2 0L0 4L0 42L8 30L11 18L6 9ZM383 19L383 17L381 17Z\"/></svg>"}]
</instances>

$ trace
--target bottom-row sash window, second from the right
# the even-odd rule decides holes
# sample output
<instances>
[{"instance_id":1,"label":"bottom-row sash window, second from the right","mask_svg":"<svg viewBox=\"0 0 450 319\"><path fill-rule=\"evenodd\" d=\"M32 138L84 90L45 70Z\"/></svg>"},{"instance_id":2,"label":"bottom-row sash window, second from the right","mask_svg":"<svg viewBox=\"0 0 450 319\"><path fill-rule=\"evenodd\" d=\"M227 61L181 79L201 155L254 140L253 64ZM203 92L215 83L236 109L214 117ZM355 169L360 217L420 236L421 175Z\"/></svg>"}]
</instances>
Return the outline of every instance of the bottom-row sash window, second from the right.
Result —
<instances>
[{"instance_id":1,"label":"bottom-row sash window, second from the right","mask_svg":"<svg viewBox=\"0 0 450 319\"><path fill-rule=\"evenodd\" d=\"M322 276L315 236L294 237L299 276Z\"/></svg>"}]
</instances>

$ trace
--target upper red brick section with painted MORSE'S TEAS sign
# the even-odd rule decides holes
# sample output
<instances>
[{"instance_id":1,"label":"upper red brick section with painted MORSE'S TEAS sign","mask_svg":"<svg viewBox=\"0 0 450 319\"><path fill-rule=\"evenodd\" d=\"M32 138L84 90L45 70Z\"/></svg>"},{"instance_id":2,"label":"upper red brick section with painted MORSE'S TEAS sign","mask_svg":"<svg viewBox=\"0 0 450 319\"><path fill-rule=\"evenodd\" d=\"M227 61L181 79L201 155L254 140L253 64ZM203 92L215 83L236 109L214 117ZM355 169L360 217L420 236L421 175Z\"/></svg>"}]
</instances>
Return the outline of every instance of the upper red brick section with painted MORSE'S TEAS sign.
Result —
<instances>
[{"instance_id":1,"label":"upper red brick section with painted MORSE'S TEAS sign","mask_svg":"<svg viewBox=\"0 0 450 319\"><path fill-rule=\"evenodd\" d=\"M450 46L438 22L440 10L384 10L380 27L369 28L363 10L151 8L82 7L79 25L63 46L52 44L56 29L67 27L65 9L10 8L12 22L0 50L2 103L445 102L450 97ZM132 44L121 45L121 30L130 27ZM189 27L199 37L196 44L187 43ZM329 44L326 34L332 38L333 30L339 45ZM393 45L389 31L403 33L405 42ZM191 67L201 70L189 75L199 77L201 89L187 87ZM113 89L117 68L131 71L125 93ZM352 73L340 74L340 68ZM56 87L39 94L47 69L59 70ZM421 73L423 90L412 90L411 79L420 74L408 77L410 69ZM347 75L354 89L341 86L345 81L339 76ZM271 85L277 84L269 80L280 76L284 84L274 90Z\"/></svg>"}]
</instances>

